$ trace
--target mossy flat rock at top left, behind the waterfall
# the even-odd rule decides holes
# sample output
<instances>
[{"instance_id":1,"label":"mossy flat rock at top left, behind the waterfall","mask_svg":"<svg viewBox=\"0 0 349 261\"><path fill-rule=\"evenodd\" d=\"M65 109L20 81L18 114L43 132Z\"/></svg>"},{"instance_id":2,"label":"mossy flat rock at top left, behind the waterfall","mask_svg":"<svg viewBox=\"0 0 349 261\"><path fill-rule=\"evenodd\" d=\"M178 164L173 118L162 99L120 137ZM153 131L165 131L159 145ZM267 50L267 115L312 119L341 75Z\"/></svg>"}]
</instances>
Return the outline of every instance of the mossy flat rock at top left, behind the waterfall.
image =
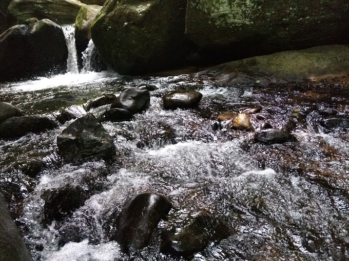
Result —
<instances>
[{"instance_id":1,"label":"mossy flat rock at top left, behind the waterfall","mask_svg":"<svg viewBox=\"0 0 349 261\"><path fill-rule=\"evenodd\" d=\"M59 25L74 24L80 8L85 6L76 0L13 0L8 14L13 24L24 24L25 20L50 19Z\"/></svg>"}]
</instances>

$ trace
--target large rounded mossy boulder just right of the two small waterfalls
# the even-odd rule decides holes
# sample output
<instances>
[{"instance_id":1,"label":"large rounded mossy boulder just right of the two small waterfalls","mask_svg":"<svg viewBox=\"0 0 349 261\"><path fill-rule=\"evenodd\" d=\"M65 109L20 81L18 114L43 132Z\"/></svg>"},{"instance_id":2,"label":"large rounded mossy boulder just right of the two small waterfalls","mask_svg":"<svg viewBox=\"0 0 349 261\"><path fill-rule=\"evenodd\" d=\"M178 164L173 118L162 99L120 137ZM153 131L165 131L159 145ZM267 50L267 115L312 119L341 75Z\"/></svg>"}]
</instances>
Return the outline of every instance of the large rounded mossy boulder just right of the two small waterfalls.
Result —
<instances>
[{"instance_id":1,"label":"large rounded mossy boulder just right of the two small waterfalls","mask_svg":"<svg viewBox=\"0 0 349 261\"><path fill-rule=\"evenodd\" d=\"M186 0L107 0L92 23L101 59L120 74L176 66L186 55Z\"/></svg>"}]
</instances>

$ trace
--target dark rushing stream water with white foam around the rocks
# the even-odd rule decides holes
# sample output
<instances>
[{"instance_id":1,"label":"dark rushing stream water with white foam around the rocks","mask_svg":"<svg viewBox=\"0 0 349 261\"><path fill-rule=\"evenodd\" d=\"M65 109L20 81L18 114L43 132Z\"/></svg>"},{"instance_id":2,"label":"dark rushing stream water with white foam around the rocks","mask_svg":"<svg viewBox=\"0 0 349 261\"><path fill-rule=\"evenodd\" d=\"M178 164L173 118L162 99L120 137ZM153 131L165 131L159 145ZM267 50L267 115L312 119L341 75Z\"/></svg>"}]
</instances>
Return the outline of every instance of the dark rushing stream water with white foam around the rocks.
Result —
<instances>
[{"instance_id":1,"label":"dark rushing stream water with white foam around the rocks","mask_svg":"<svg viewBox=\"0 0 349 261\"><path fill-rule=\"evenodd\" d=\"M158 88L150 92L149 109L130 122L103 123L118 151L111 163L65 164L57 154L56 136L71 121L42 134L0 140L0 186L36 260L181 260L159 252L160 232L151 246L131 256L122 254L118 243L107 242L105 224L127 199L143 191L162 193L173 203L159 231L180 230L188 216L201 210L234 231L188 259L349 259L349 92L340 84L222 87L189 75L118 78L90 73L2 84L0 100L28 115L53 115L142 84ZM161 97L182 89L203 94L199 107L163 110ZM228 129L228 122L212 128L220 112L257 105L262 110L249 115L256 130L268 122L290 131L296 141L263 145L253 142L253 132ZM91 112L98 116L108 106ZM159 123L173 129L175 140L154 140L139 148L142 134ZM15 166L28 159L44 162L36 178ZM86 186L83 174L100 177L98 189L72 216L42 225L41 191L69 183ZM67 226L79 227L81 242L61 247L60 231Z\"/></svg>"}]
</instances>

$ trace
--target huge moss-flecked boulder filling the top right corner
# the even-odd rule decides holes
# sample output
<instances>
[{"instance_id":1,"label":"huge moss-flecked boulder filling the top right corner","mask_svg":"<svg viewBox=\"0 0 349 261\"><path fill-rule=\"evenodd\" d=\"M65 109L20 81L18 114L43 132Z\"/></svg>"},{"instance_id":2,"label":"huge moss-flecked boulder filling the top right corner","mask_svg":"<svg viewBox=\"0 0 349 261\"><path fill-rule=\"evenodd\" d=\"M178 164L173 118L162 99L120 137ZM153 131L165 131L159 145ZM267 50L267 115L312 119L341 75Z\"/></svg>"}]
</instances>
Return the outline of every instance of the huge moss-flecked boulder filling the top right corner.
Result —
<instances>
[{"instance_id":1,"label":"huge moss-flecked boulder filling the top right corner","mask_svg":"<svg viewBox=\"0 0 349 261\"><path fill-rule=\"evenodd\" d=\"M188 0L185 34L213 60L228 61L349 42L348 19L346 0Z\"/></svg>"}]
</instances>

